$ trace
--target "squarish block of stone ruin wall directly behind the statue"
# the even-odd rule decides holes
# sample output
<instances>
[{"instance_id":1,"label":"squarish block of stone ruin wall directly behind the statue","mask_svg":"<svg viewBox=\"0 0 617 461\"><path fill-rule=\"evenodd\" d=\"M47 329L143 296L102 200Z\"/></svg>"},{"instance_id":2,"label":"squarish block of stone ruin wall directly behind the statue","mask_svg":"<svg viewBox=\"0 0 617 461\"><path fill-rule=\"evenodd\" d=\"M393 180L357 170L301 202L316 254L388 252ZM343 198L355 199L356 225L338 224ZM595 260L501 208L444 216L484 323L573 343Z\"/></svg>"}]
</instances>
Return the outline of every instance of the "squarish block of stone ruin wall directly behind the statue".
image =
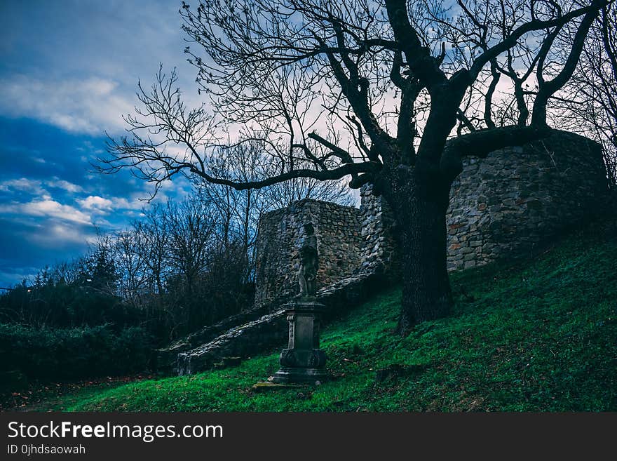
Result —
<instances>
[{"instance_id":1,"label":"squarish block of stone ruin wall directly behind the statue","mask_svg":"<svg viewBox=\"0 0 617 461\"><path fill-rule=\"evenodd\" d=\"M355 272L360 265L360 211L304 199L266 213L259 221L255 305L284 302L298 293L298 248L302 224L313 223L319 257L318 288Z\"/></svg>"}]
</instances>

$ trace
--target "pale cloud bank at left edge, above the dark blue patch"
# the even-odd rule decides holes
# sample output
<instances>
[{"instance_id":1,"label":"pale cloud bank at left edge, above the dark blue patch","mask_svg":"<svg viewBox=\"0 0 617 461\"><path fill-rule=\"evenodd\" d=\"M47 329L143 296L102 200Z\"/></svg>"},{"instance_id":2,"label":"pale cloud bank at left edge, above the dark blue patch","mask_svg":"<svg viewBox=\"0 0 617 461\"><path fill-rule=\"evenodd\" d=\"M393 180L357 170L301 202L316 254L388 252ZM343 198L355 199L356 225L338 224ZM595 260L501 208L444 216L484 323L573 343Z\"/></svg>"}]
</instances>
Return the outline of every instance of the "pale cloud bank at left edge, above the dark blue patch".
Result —
<instances>
[{"instance_id":1,"label":"pale cloud bank at left edge, above the dark blue patch","mask_svg":"<svg viewBox=\"0 0 617 461\"><path fill-rule=\"evenodd\" d=\"M18 75L0 79L4 88L0 112L13 117L29 117L72 133L101 135L123 128L121 114L133 104L110 79L38 79Z\"/></svg>"}]
</instances>

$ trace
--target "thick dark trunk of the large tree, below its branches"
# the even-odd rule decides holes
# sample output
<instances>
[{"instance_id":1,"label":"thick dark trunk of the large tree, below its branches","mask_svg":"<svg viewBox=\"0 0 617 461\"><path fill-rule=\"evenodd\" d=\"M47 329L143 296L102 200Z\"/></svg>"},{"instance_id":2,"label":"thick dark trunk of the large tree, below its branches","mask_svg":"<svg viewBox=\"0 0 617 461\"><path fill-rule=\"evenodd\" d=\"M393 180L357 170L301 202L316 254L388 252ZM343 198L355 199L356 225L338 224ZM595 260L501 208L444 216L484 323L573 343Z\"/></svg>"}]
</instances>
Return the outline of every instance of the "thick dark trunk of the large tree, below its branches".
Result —
<instances>
[{"instance_id":1,"label":"thick dark trunk of the large tree, below its branches","mask_svg":"<svg viewBox=\"0 0 617 461\"><path fill-rule=\"evenodd\" d=\"M446 211L450 183L440 174L399 167L384 196L393 208L403 291L398 331L449 314L452 291L446 264Z\"/></svg>"}]
</instances>

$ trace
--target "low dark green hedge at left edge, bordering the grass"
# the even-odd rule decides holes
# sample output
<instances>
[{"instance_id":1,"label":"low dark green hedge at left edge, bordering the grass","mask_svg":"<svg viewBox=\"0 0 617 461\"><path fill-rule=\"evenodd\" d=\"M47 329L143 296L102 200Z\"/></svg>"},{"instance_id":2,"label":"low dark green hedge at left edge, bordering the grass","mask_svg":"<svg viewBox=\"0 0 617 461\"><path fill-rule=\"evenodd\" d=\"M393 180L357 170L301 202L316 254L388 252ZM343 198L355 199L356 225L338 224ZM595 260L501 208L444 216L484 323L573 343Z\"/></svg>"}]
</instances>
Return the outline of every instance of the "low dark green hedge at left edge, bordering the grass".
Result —
<instances>
[{"instance_id":1,"label":"low dark green hedge at left edge, bordering the grass","mask_svg":"<svg viewBox=\"0 0 617 461\"><path fill-rule=\"evenodd\" d=\"M82 328L33 328L0 323L0 371L28 378L75 379L147 369L152 340L142 327L114 331L105 324Z\"/></svg>"}]
</instances>

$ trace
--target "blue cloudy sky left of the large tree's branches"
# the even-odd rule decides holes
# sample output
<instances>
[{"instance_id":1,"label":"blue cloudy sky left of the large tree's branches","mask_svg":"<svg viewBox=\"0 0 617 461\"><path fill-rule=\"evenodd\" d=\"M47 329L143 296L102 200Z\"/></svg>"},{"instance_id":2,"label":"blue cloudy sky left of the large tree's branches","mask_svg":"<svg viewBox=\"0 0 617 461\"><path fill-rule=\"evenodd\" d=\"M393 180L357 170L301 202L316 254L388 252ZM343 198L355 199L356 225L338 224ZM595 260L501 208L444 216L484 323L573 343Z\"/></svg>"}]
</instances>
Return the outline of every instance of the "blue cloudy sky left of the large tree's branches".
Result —
<instances>
[{"instance_id":1,"label":"blue cloudy sky left of the large tree's branches","mask_svg":"<svg viewBox=\"0 0 617 461\"><path fill-rule=\"evenodd\" d=\"M0 1L0 287L81 255L149 196L128 172L93 173L123 133L137 80L159 62L191 93L176 0ZM124 174L126 173L126 174ZM174 183L158 200L185 193Z\"/></svg>"}]
</instances>

